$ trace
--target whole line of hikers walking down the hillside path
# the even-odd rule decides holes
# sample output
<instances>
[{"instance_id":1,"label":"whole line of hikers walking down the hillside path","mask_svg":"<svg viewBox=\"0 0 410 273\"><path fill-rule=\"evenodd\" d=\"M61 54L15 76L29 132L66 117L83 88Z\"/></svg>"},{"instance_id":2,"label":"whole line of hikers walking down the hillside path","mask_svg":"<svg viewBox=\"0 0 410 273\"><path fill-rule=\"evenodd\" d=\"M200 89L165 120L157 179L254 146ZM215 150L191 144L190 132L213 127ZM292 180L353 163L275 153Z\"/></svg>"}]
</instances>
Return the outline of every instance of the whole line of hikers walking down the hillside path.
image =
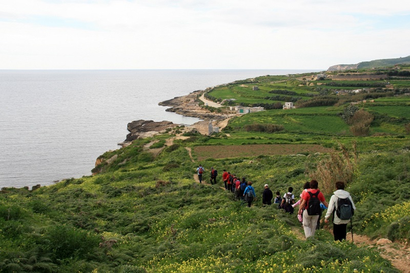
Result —
<instances>
[{"instance_id":1,"label":"whole line of hikers walking down the hillside path","mask_svg":"<svg viewBox=\"0 0 410 273\"><path fill-rule=\"evenodd\" d=\"M202 175L204 169L201 165L197 168L199 183L202 183ZM211 167L210 182L216 184L218 172ZM237 200L242 200L248 203L251 207L252 202L256 198L255 188L251 181L246 181L245 177L239 179L235 174L223 170L222 181L226 191L231 191ZM294 214L294 208L299 205L297 218L303 225L305 237L315 235L316 229L319 229L320 218L324 209L327 212L324 216L324 222L329 223L329 219L333 216L333 234L335 241L346 239L346 229L348 222L351 222L356 206L350 196L350 193L344 191L345 183L342 181L336 182L336 191L330 198L329 203L326 202L324 195L320 192L319 183L316 180L305 182L303 191L300 194L300 199L295 202L295 196L292 193L293 187L288 188L288 192L280 195L276 192L274 204L280 209L284 209L286 213ZM273 193L268 184L264 185L262 193L262 205L272 205Z\"/></svg>"}]
</instances>

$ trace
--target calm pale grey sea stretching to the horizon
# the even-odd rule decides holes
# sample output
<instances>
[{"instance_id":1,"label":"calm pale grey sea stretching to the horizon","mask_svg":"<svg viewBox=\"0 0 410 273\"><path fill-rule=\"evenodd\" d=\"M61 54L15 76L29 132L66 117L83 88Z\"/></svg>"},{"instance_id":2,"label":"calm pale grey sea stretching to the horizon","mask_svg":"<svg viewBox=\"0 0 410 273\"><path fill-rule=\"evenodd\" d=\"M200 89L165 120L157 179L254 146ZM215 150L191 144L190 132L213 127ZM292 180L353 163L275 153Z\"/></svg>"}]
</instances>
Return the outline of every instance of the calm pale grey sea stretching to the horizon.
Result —
<instances>
[{"instance_id":1,"label":"calm pale grey sea stretching to the horizon","mask_svg":"<svg viewBox=\"0 0 410 273\"><path fill-rule=\"evenodd\" d=\"M262 75L317 70L0 70L0 188L91 175L127 124L193 124L158 102Z\"/></svg>"}]
</instances>

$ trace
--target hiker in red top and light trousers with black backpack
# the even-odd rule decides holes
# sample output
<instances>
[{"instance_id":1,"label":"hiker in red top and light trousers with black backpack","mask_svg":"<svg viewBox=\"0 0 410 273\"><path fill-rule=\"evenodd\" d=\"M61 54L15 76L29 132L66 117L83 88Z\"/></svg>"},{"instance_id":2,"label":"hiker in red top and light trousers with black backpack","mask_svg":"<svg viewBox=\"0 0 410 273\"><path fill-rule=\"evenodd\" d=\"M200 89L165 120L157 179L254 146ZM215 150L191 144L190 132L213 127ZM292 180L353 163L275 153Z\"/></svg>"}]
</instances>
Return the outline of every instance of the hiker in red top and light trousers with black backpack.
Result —
<instances>
[{"instance_id":1,"label":"hiker in red top and light trousers with black backpack","mask_svg":"<svg viewBox=\"0 0 410 273\"><path fill-rule=\"evenodd\" d=\"M302 215L303 213L303 229L306 238L315 235L317 219L320 214L320 202L326 207L329 206L323 194L318 190L318 184L316 180L312 180L309 183L310 188L302 192L302 202L298 214Z\"/></svg>"}]
</instances>

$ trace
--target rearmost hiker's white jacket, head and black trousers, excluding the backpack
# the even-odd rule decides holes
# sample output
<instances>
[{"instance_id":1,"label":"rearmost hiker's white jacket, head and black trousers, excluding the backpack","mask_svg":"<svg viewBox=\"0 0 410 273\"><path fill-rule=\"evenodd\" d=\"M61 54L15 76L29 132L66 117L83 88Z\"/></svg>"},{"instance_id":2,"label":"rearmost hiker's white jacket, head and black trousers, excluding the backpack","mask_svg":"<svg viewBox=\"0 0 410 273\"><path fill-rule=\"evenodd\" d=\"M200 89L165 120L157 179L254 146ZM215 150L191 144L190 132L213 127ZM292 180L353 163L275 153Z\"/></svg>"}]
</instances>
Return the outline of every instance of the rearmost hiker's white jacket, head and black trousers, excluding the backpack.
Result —
<instances>
[{"instance_id":1,"label":"rearmost hiker's white jacket, head and black trousers, excluding the backpack","mask_svg":"<svg viewBox=\"0 0 410 273\"><path fill-rule=\"evenodd\" d=\"M324 222L329 223L329 218L331 217L332 214L334 214L333 235L335 237L335 241L342 241L342 240L346 240L346 227L347 227L347 223L350 222L350 220L341 220L339 217L337 217L336 209L337 209L338 198L350 199L350 201L352 202L353 209L356 210L356 206L353 203L350 193L344 190L344 182L342 181L336 182L336 192L334 192L334 195L332 195L332 197L330 198L329 207L327 208L327 213L324 217Z\"/></svg>"}]
</instances>

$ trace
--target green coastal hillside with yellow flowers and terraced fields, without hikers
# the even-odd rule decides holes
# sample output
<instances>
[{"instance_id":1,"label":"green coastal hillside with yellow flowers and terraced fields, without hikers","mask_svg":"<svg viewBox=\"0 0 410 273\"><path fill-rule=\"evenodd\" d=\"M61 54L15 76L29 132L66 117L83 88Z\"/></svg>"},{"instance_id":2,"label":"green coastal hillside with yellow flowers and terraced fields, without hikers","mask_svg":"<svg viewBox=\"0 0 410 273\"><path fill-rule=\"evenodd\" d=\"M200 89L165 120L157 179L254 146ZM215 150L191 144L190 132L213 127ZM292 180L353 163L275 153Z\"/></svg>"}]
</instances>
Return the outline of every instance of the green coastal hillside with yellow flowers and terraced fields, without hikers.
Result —
<instances>
[{"instance_id":1,"label":"green coastal hillside with yellow flowers and terraced fields, without hikers","mask_svg":"<svg viewBox=\"0 0 410 273\"><path fill-rule=\"evenodd\" d=\"M189 101L206 92L270 110L234 114L230 101L214 109L196 100L196 114L235 117L210 136L177 125L135 139L101 155L94 176L3 188L0 271L408 272L410 78L331 76L265 75L191 93ZM283 110L285 101L297 108ZM207 183L196 180L198 164ZM222 190L223 169L253 182L252 207ZM335 243L323 222L305 239L296 215L262 206L265 183L299 197L311 179L326 200L337 180L347 183L354 241L374 243L352 243L351 234ZM381 238L392 242L376 245Z\"/></svg>"}]
</instances>

